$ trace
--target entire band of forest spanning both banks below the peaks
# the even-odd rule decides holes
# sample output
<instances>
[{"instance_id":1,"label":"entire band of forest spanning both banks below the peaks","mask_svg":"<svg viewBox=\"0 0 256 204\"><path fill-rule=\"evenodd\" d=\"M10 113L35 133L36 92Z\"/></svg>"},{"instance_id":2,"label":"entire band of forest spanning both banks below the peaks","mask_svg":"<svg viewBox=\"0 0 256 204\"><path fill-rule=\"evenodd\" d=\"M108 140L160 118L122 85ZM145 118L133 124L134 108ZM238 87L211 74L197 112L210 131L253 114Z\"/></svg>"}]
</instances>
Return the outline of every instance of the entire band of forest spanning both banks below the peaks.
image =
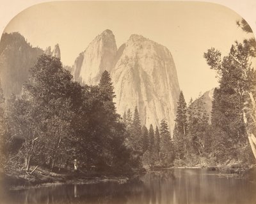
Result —
<instances>
[{"instance_id":1,"label":"entire band of forest spanning both banks below the peaks","mask_svg":"<svg viewBox=\"0 0 256 204\"><path fill-rule=\"evenodd\" d=\"M237 24L252 32L244 20ZM248 166L255 162L253 153L256 157L255 44L254 38L236 42L224 58L214 48L205 52L220 82L211 120L203 97L187 106L181 91L173 130L164 118L160 127L145 127L137 107L117 114L107 71L97 86L81 85L59 58L44 54L20 97L4 98L0 87L1 169L31 175L38 166L80 173L230 162Z\"/></svg>"}]
</instances>

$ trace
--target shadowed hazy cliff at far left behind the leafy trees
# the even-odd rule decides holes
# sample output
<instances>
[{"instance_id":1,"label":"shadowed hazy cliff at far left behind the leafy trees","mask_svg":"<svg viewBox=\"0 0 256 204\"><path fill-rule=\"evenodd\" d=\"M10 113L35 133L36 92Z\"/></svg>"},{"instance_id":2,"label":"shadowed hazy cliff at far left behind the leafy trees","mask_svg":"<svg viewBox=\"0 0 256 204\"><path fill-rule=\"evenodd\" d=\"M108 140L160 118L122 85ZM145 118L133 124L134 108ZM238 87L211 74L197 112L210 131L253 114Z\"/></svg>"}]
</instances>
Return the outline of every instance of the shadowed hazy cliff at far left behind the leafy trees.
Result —
<instances>
[{"instance_id":1,"label":"shadowed hazy cliff at far left behind the leafy trees","mask_svg":"<svg viewBox=\"0 0 256 204\"><path fill-rule=\"evenodd\" d=\"M4 33L0 42L0 79L6 98L20 95L22 84L29 77L29 68L35 65L44 51L31 47L19 33Z\"/></svg>"}]
</instances>

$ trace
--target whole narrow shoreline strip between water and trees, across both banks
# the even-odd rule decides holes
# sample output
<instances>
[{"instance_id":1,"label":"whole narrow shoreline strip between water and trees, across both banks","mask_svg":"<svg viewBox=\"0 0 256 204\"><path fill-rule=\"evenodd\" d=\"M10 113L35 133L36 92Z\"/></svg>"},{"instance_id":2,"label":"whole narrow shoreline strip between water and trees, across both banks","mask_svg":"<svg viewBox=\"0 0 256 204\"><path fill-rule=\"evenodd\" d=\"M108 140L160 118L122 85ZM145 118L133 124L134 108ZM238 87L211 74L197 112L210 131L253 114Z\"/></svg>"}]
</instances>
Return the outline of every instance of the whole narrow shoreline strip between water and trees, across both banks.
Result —
<instances>
[{"instance_id":1,"label":"whole narrow shoreline strip between water and trees, across both banks","mask_svg":"<svg viewBox=\"0 0 256 204\"><path fill-rule=\"evenodd\" d=\"M172 167L147 167L136 169L134 172L116 174L113 172L52 172L47 168L38 168L33 175L24 175L24 172L15 172L12 175L0 175L0 182L10 188L10 190L31 189L48 187L52 185L65 184L99 184L104 182L117 182L118 184L126 184L145 173L152 171L162 171L164 169L205 169L214 172L213 175L218 177L232 177L243 179L250 171L256 172L256 165L241 166L240 164L225 164L218 166L172 166Z\"/></svg>"}]
</instances>

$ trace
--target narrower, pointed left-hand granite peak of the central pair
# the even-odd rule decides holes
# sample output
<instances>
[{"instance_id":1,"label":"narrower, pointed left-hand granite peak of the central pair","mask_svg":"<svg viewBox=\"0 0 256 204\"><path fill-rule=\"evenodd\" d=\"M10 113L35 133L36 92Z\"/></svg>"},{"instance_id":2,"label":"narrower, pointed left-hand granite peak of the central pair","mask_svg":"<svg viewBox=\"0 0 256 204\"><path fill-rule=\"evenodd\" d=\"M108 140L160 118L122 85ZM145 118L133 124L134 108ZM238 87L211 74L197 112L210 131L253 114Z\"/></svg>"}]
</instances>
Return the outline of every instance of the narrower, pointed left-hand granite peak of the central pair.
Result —
<instances>
[{"instance_id":1,"label":"narrower, pointed left-hand granite peak of the central pair","mask_svg":"<svg viewBox=\"0 0 256 204\"><path fill-rule=\"evenodd\" d=\"M116 42L112 31L106 30L98 35L76 59L74 79L84 84L95 85L104 70L111 72L116 56Z\"/></svg>"}]
</instances>

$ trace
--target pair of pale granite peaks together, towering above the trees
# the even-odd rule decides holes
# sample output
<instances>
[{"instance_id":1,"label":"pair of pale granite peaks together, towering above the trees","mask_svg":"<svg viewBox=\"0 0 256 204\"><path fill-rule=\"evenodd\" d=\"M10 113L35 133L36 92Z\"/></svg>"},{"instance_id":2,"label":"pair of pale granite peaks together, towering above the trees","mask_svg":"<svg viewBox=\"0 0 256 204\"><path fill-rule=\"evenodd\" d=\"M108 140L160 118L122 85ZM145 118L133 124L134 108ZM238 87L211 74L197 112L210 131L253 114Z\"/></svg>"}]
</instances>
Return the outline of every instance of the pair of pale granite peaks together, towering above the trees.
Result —
<instances>
[{"instance_id":1,"label":"pair of pale granite peaks together, towering above the trees","mask_svg":"<svg viewBox=\"0 0 256 204\"><path fill-rule=\"evenodd\" d=\"M141 123L149 127L165 118L172 129L180 93L172 54L166 47L140 35L132 35L116 51L109 30L97 36L74 65L74 79L97 84L104 70L111 73L118 113L140 111Z\"/></svg>"}]
</instances>

